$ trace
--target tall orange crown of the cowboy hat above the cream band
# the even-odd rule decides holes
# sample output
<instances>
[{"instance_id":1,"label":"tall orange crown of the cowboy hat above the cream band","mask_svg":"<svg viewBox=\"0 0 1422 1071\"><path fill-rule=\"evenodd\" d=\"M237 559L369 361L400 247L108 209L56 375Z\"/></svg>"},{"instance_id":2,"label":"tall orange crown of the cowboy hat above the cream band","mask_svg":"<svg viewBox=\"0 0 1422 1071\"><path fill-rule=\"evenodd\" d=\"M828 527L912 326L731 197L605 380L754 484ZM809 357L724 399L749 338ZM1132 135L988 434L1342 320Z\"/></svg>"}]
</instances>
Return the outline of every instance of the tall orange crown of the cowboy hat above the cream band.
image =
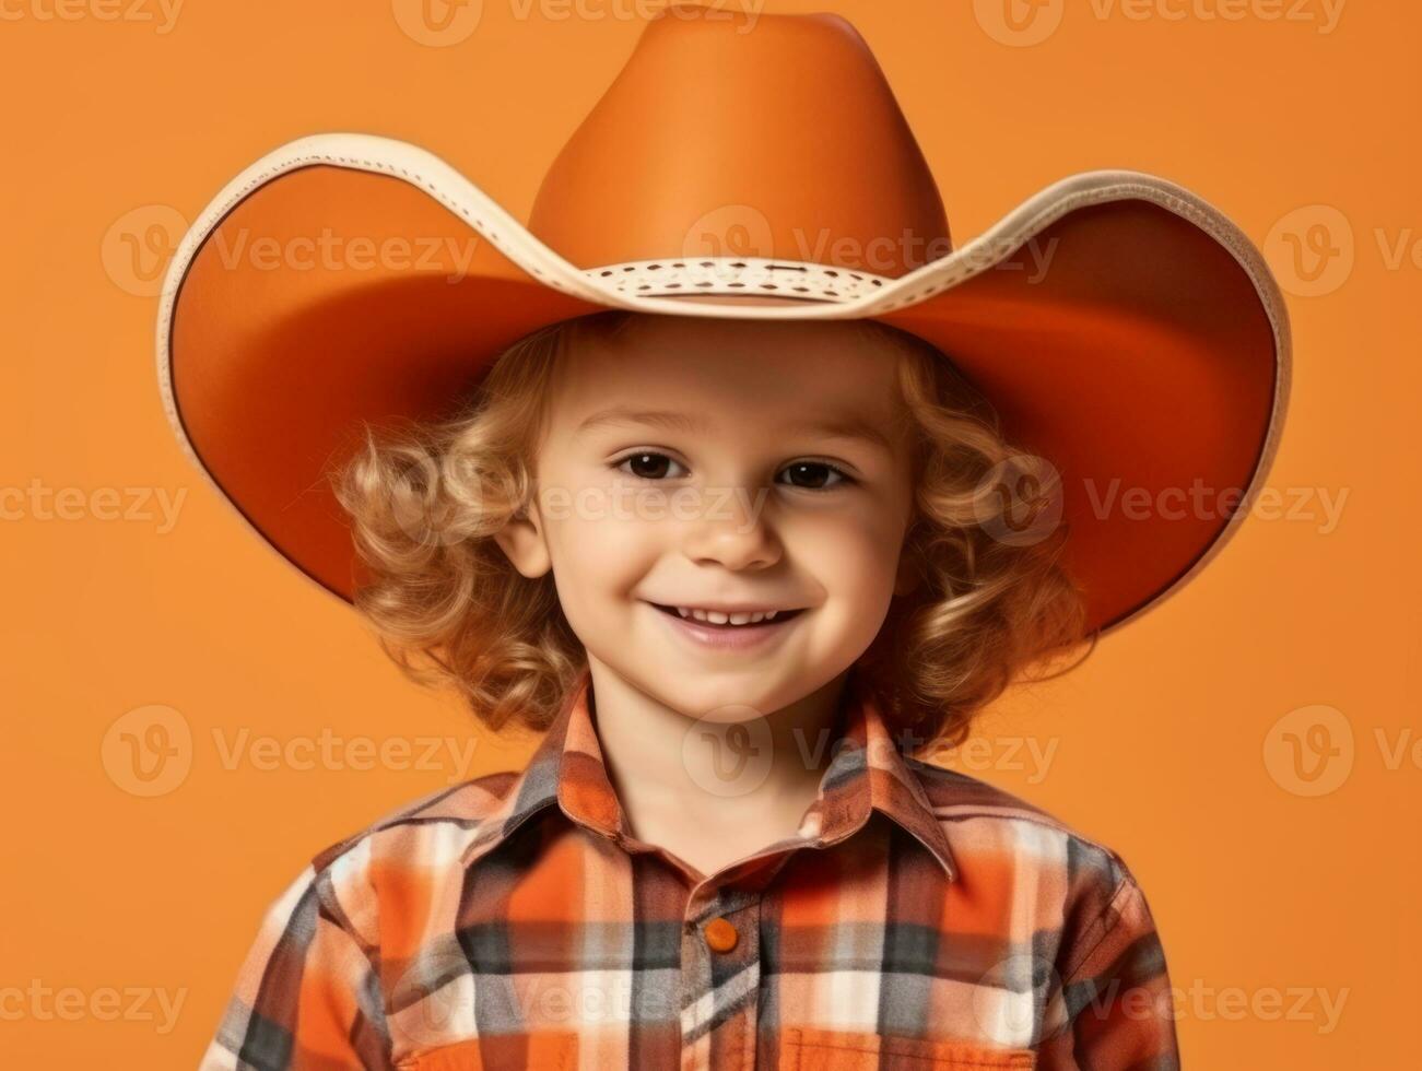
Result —
<instances>
[{"instance_id":1,"label":"tall orange crown of the cowboy hat above the cream band","mask_svg":"<svg viewBox=\"0 0 1422 1071\"><path fill-rule=\"evenodd\" d=\"M933 175L852 24L700 6L647 24L529 230L583 269L744 256L897 277L950 252Z\"/></svg>"}]
</instances>

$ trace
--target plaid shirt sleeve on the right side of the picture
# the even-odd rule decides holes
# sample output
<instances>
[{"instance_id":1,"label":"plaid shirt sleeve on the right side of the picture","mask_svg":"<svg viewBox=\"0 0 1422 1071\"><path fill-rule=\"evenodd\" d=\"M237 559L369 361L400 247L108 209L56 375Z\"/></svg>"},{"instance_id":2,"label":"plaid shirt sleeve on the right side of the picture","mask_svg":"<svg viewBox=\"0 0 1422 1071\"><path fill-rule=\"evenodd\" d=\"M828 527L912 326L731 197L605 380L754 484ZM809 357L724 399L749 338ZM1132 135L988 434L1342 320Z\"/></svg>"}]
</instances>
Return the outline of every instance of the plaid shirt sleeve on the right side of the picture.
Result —
<instances>
[{"instance_id":1,"label":"plaid shirt sleeve on the right side of the picture","mask_svg":"<svg viewBox=\"0 0 1422 1071\"><path fill-rule=\"evenodd\" d=\"M1039 1071L1176 1071L1180 1054L1165 950L1135 878L1119 859L1105 909L1064 953L1054 1000L1062 1021L1041 1045Z\"/></svg>"}]
</instances>

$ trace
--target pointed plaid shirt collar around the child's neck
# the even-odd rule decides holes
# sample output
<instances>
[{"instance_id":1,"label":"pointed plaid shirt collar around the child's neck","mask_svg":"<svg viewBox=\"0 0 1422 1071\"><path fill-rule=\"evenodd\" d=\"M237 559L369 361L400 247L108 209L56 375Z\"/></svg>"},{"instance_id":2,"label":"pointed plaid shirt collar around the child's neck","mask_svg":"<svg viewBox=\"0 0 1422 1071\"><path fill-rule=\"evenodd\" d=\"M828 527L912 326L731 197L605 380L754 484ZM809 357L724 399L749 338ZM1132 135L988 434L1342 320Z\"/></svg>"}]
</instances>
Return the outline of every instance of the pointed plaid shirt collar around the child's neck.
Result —
<instances>
[{"instance_id":1,"label":"pointed plaid shirt collar around the child's neck","mask_svg":"<svg viewBox=\"0 0 1422 1071\"><path fill-rule=\"evenodd\" d=\"M481 822L464 852L466 866L555 804L570 821L594 833L613 841L630 838L587 708L590 687L584 667L523 772ZM877 707L850 690L842 725L840 742L820 777L815 802L798 833L781 843L786 848L836 843L857 832L877 811L912 833L954 879L957 866L943 825Z\"/></svg>"}]
</instances>

